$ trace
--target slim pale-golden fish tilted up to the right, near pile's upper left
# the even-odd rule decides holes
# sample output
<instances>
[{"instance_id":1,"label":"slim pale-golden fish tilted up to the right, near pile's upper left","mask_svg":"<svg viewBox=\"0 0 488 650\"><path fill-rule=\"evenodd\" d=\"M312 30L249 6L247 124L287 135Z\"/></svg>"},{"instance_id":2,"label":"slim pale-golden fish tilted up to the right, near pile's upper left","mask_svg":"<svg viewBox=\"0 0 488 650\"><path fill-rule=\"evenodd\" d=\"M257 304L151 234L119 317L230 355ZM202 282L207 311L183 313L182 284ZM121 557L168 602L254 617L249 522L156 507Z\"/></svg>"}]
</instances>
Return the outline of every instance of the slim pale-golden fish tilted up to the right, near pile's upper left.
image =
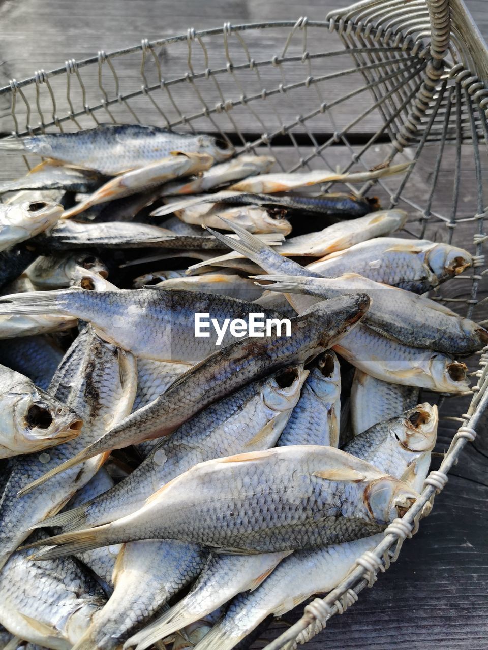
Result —
<instances>
[{"instance_id":1,"label":"slim pale-golden fish tilted up to the right, near pile's upper left","mask_svg":"<svg viewBox=\"0 0 488 650\"><path fill-rule=\"evenodd\" d=\"M107 181L85 200L66 210L62 214L62 218L68 219L98 203L106 203L137 194L137 192L152 190L170 179L209 169L212 164L213 157L208 153L172 152L172 155L168 157L129 170Z\"/></svg>"}]
</instances>

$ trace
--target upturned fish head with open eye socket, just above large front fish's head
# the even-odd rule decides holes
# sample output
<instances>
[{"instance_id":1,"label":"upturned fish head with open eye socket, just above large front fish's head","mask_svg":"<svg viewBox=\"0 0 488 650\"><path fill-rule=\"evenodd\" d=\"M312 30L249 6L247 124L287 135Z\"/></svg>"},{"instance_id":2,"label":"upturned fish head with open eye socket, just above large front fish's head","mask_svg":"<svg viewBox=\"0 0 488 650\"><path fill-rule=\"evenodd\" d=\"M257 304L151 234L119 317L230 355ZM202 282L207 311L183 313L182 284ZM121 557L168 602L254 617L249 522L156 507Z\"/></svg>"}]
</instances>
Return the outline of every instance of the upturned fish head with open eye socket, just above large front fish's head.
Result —
<instances>
[{"instance_id":1,"label":"upturned fish head with open eye socket, just above large front fish's head","mask_svg":"<svg viewBox=\"0 0 488 650\"><path fill-rule=\"evenodd\" d=\"M426 452L435 445L438 423L437 406L424 402L405 413L401 418L401 426L395 428L394 434L401 447L407 451Z\"/></svg>"}]
</instances>

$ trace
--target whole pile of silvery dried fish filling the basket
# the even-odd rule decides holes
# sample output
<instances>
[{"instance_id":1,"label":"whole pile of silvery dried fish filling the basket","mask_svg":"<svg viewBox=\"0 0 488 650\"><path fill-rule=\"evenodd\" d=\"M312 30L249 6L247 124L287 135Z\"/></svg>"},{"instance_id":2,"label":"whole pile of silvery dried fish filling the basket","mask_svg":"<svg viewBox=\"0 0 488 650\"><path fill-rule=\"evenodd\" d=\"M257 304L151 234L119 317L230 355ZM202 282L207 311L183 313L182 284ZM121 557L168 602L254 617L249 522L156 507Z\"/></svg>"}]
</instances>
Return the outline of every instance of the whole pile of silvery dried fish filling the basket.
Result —
<instances>
[{"instance_id":1,"label":"whole pile of silvery dried fish filling the basket","mask_svg":"<svg viewBox=\"0 0 488 650\"><path fill-rule=\"evenodd\" d=\"M141 125L0 149L44 159L0 184L0 647L249 647L422 491L420 391L488 342L424 294L472 257L321 190L408 164Z\"/></svg>"}]
</instances>

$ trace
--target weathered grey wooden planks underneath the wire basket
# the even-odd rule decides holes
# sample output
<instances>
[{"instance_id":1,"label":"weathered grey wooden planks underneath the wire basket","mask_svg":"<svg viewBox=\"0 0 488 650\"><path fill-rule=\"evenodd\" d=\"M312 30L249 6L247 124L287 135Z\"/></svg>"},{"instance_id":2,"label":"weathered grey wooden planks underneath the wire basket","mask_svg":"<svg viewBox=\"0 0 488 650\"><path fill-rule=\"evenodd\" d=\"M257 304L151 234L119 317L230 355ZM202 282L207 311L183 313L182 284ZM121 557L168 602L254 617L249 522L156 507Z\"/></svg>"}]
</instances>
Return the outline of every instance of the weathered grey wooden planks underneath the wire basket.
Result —
<instances>
[{"instance_id":1,"label":"weathered grey wooden planks underneath the wire basket","mask_svg":"<svg viewBox=\"0 0 488 650\"><path fill-rule=\"evenodd\" d=\"M76 3L68 0L23 0L14 3L10 0L0 2L0 18L2 38L0 40L0 85L8 83L11 78L18 80L30 76L35 70L44 68L50 70L63 65L66 59L84 59L100 49L113 51L126 45L137 44L141 38L149 40L185 32L188 27L204 29L221 25L224 21L233 24L253 23L276 19L295 19L298 16L308 16L310 19L323 19L334 6L346 6L347 0L305 0L300 5L291 0L206 0L202 3L196 0L180 0L177 3L164 0L118 0L117 2L100 3L95 0L79 0ZM488 36L488 12L485 0L467 0L481 32ZM313 34L310 30L310 38ZM326 36L329 45L320 42L320 37L326 32L320 32L315 37L314 46L320 45L327 49L339 49L340 42ZM256 60L271 59L274 54L280 54L286 38L286 32L280 34L263 31L256 34L246 34L246 42L251 48L251 56ZM295 36L291 51L302 51L301 34ZM207 41L206 41L207 42ZM236 43L232 41L231 54L237 61L242 61L242 53L232 49ZM193 60L195 69L203 69L204 62L198 44L194 44ZM319 49L316 49L319 51ZM222 64L223 46L210 44L211 67ZM186 44L170 45L158 53L163 76L171 78L184 72ZM240 57L240 59L239 59ZM330 60L329 70L344 68L346 57ZM125 63L127 62L127 64ZM138 65L141 55L126 60L115 61L116 70L120 71L123 81L121 92L128 88L139 88L141 77ZM349 60L347 60L349 64ZM334 68L335 66L335 68ZM105 66L106 68L106 66ZM110 85L110 72L104 68L103 83ZM100 98L98 79L95 70L81 70L88 94ZM156 66L148 63L148 79L154 83ZM108 73L108 75L107 75ZM290 66L286 70L288 81L299 81L308 74L301 64ZM107 76L105 76L107 75ZM279 70L269 67L262 74L262 85L280 83ZM75 77L72 77L75 84ZM278 81L277 81L278 80ZM256 78L243 77L246 92L259 86ZM344 77L341 90L346 92L358 84L358 79ZM336 82L337 83L337 82ZM207 86L206 86L207 85ZM256 86L257 85L257 86ZM224 92L236 92L234 82L230 83L223 76ZM58 114L62 116L61 108L66 107L66 101L61 96L66 94L66 86L59 88L53 82L57 99L59 98ZM211 81L202 81L199 88L205 96L212 98L215 104L215 86ZM61 92L61 95L59 95ZM332 86L327 86L327 99L330 100ZM161 91L162 93L162 91ZM181 93L181 94L180 94ZM280 120L291 121L298 112L305 114L317 106L318 98L312 92L301 92L291 97L280 95L278 99L267 99L260 102L260 116L266 129L275 129ZM299 99L297 100L297 97ZM180 103L185 111L195 106L195 95L191 89L178 90ZM227 96L226 96L227 98ZM161 97L159 98L161 99ZM294 101L293 101L294 100ZM91 101L91 100L90 100ZM147 101L147 100L146 100ZM165 98L165 107L168 101ZM146 104L148 106L148 103ZM0 130L12 129L12 123L7 118L10 103L0 98ZM146 110L146 109L144 109ZM279 118L275 114L278 110ZM117 114L117 110L114 110ZM19 111L22 114L22 110ZM25 114L25 110L23 111ZM357 104L344 106L340 119L346 120L357 114ZM144 115L146 113L144 112ZM152 112L161 123L161 116ZM234 117L243 131L261 133L263 127L256 121L252 113L236 111ZM45 118L49 118L47 111ZM153 120L148 120L154 121ZM224 118L219 118L223 120ZM34 120L34 125L37 120ZM46 119L47 121L47 119ZM84 123L88 123L89 120ZM223 124L224 122L219 122ZM373 115L360 123L355 133L372 133L379 125L379 116ZM232 130L232 123L227 122L225 128ZM321 118L313 123L313 130L324 132L331 130L331 124ZM377 148L377 155L384 153L383 147ZM357 148L354 149L357 151ZM306 154L305 148L304 153ZM284 164L296 162L299 152L291 155L290 151L282 150ZM344 164L346 156L343 148L334 147L327 151L327 157L332 166ZM405 155L409 155L407 152ZM411 200L422 204L429 192L429 179L437 149L432 146L426 149L422 159L414 170L409 183ZM463 148L463 168L467 169L463 177L462 193L464 200L459 205L458 215L468 216L473 213L475 177L468 170L472 153L469 148ZM321 161L323 165L324 161ZM318 166L314 161L312 166ZM486 167L485 167L486 169ZM10 175L10 163L3 164L0 174ZM454 173L454 155L448 151L444 155L439 193L437 195L437 211L449 214L452 198L452 178ZM418 214L410 207L413 218ZM416 224L411 229L415 233ZM448 230L445 227L437 229L437 236L445 240ZM454 243L463 244L473 252L472 222L459 224L454 233ZM433 236L434 228L429 227L427 235ZM451 296L465 291L464 281L452 281L448 290ZM483 318L482 310L476 309L476 318ZM484 316L486 318L486 315ZM452 399L444 410L444 414L460 415L463 406L459 400ZM442 422L437 451L444 452L457 428L452 421ZM488 443L487 419L483 419L478 428L479 437L474 445L468 445L463 452L458 465L450 475L446 489L437 497L432 515L422 523L420 532L413 540L407 541L401 552L398 563L381 576L373 590L365 590L360 595L359 602L351 608L346 616L334 617L316 639L308 644L310 650L354 650L367 647L370 650L390 650L391 648L411 650L425 648L442 650L478 650L488 646L488 545L486 525L486 504L488 500ZM439 467L439 459L433 462L433 469ZM304 580L306 577L304 576ZM297 608L286 620L295 620L302 608ZM265 633L269 639L276 635L279 622ZM257 642L254 648L264 647L264 642Z\"/></svg>"}]
</instances>

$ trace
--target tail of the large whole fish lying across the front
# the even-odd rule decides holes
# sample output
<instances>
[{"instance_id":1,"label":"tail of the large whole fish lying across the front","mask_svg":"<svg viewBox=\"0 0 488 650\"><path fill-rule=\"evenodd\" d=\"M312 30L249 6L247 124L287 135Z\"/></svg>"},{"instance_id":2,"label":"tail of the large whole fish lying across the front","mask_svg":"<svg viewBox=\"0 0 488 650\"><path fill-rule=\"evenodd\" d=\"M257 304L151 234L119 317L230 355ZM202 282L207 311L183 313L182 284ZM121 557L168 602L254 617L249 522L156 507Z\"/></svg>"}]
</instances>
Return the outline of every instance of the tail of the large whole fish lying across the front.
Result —
<instances>
[{"instance_id":1,"label":"tail of the large whole fish lying across the front","mask_svg":"<svg viewBox=\"0 0 488 650\"><path fill-rule=\"evenodd\" d=\"M37 546L50 546L52 548L41 552L34 552L31 555L32 560L55 560L66 555L92 551L101 546L109 546L112 543L121 543L120 534L117 534L111 524L97 526L96 528L86 528L85 530L76 530L75 532L64 532L61 535L55 535L46 539L40 539L38 542L29 544L24 548L34 548Z\"/></svg>"}]
</instances>

